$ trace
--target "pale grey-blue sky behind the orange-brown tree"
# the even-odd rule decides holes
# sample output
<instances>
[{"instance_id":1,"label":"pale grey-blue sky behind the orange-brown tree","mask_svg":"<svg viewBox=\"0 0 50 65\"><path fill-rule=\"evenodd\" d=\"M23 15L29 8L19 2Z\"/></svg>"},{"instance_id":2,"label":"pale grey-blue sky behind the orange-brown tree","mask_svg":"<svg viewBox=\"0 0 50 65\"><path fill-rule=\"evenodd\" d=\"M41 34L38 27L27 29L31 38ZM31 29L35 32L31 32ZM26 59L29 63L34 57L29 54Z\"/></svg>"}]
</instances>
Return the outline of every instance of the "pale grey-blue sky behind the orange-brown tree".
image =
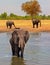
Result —
<instances>
[{"instance_id":1,"label":"pale grey-blue sky behind the orange-brown tree","mask_svg":"<svg viewBox=\"0 0 50 65\"><path fill-rule=\"evenodd\" d=\"M10 13L14 13L16 15L26 15L24 11L21 10L22 3L25 3L31 0L0 0L0 14L7 12L9 15ZM50 0L38 0L42 15L50 15Z\"/></svg>"}]
</instances>

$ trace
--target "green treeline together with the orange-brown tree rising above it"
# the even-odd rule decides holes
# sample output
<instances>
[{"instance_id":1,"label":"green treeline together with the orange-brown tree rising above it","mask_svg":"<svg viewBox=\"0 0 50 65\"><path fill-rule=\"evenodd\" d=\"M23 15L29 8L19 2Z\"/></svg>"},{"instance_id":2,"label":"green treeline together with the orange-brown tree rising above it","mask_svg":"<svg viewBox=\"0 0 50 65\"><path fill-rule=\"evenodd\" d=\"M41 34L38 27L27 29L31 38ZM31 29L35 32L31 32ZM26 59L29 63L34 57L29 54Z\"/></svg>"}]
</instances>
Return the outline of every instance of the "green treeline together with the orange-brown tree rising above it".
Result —
<instances>
[{"instance_id":1,"label":"green treeline together with the orange-brown tree rising above it","mask_svg":"<svg viewBox=\"0 0 50 65\"><path fill-rule=\"evenodd\" d=\"M10 13L10 15L8 15L7 12L4 12L0 14L0 20L33 20L33 18L43 20L50 19L50 15L39 15L42 11L37 0L22 3L21 9L27 14L26 16L18 16L14 13Z\"/></svg>"}]
</instances>

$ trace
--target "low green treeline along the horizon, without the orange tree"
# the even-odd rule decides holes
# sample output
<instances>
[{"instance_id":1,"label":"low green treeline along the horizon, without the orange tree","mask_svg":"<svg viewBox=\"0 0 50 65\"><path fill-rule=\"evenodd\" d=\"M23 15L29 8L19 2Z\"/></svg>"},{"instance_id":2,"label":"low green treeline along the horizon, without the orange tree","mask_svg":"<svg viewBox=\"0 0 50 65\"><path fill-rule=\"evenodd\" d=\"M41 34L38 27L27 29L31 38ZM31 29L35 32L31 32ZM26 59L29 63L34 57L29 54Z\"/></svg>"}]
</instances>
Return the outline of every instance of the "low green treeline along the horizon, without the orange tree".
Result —
<instances>
[{"instance_id":1,"label":"low green treeline along the horizon, without the orange tree","mask_svg":"<svg viewBox=\"0 0 50 65\"><path fill-rule=\"evenodd\" d=\"M36 19L48 19L50 20L50 15L46 16L46 15L36 15L36 16L33 16L34 18ZM7 15L6 12L0 14L0 20L21 20L21 19L24 19L24 20L31 20L31 16L18 16L14 13L10 13L10 15Z\"/></svg>"}]
</instances>

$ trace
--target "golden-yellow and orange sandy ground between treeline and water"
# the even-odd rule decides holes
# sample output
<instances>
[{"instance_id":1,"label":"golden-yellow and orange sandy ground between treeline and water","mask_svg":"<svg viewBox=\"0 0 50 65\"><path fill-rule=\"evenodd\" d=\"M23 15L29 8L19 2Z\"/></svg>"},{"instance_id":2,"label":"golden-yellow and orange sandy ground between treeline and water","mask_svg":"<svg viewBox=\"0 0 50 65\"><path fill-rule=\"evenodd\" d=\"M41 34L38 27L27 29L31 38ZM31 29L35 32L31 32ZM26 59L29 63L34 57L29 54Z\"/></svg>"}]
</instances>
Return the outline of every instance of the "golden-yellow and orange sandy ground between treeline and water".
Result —
<instances>
[{"instance_id":1,"label":"golden-yellow and orange sandy ground between treeline and water","mask_svg":"<svg viewBox=\"0 0 50 65\"><path fill-rule=\"evenodd\" d=\"M14 30L14 26L12 29L7 29L6 27L7 20L0 20L0 32L8 32ZM23 28L28 30L29 32L50 32L50 20L41 20L41 27L33 28L31 20L12 20L15 23L16 28Z\"/></svg>"}]
</instances>

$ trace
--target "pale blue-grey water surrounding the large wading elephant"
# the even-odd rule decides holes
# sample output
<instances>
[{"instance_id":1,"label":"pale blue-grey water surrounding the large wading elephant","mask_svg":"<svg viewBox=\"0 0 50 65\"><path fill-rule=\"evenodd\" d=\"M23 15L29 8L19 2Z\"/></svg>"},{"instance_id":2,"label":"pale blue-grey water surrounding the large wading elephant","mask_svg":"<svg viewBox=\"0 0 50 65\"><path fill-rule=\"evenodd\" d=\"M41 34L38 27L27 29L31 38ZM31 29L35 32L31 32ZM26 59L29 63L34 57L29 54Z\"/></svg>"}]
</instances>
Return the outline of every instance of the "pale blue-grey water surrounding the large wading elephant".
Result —
<instances>
[{"instance_id":1,"label":"pale blue-grey water surrounding the large wading elephant","mask_svg":"<svg viewBox=\"0 0 50 65\"><path fill-rule=\"evenodd\" d=\"M0 33L0 65L50 65L50 32L30 33L24 58L12 57L11 33Z\"/></svg>"}]
</instances>

